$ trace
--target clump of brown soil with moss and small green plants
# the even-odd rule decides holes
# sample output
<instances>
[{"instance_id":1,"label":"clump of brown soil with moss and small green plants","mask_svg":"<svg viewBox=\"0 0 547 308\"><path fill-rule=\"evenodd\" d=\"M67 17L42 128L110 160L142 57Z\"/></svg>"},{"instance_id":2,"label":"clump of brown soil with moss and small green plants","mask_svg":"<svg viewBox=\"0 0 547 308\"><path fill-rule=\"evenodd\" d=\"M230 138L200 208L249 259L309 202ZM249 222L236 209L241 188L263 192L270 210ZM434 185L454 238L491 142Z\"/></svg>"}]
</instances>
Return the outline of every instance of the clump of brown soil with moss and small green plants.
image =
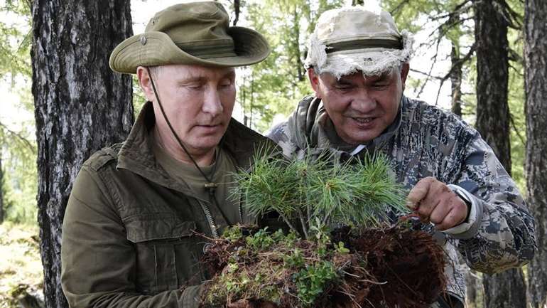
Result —
<instances>
[{"instance_id":1,"label":"clump of brown soil with moss and small green plants","mask_svg":"<svg viewBox=\"0 0 547 308\"><path fill-rule=\"evenodd\" d=\"M445 287L445 260L435 240L403 225L294 233L231 229L205 253L212 280L202 307L241 299L280 308L426 308Z\"/></svg>"}]
</instances>

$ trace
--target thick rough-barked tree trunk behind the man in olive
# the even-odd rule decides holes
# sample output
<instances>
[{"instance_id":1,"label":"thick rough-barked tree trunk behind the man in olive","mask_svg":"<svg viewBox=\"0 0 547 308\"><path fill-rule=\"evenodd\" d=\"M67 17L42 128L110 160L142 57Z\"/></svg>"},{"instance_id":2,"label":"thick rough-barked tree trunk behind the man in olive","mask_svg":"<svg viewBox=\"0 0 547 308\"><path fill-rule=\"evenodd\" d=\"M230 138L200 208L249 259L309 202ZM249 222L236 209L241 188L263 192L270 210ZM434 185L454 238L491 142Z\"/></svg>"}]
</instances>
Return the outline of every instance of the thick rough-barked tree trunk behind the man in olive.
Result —
<instances>
[{"instance_id":1,"label":"thick rough-barked tree trunk behind the man in olive","mask_svg":"<svg viewBox=\"0 0 547 308\"><path fill-rule=\"evenodd\" d=\"M109 54L131 35L129 0L34 0L32 66L38 144L38 224L45 307L67 307L60 287L61 225L72 181L92 152L129 133L131 76Z\"/></svg>"}]
</instances>

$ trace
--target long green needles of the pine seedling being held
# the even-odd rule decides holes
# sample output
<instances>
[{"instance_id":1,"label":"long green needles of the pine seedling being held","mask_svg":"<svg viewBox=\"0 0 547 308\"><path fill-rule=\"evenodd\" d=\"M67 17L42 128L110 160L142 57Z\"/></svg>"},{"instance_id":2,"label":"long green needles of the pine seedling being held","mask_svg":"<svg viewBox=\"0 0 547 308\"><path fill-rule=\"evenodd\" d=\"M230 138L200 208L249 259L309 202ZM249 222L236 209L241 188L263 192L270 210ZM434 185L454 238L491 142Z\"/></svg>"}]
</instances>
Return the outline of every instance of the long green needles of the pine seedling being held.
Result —
<instances>
[{"instance_id":1,"label":"long green needles of the pine seedling being held","mask_svg":"<svg viewBox=\"0 0 547 308\"><path fill-rule=\"evenodd\" d=\"M389 211L408 213L405 191L390 174L384 155L344 163L334 156L303 159L255 157L250 172L236 175L234 196L243 196L254 216L276 211L288 226L308 238L310 225L376 227Z\"/></svg>"}]
</instances>

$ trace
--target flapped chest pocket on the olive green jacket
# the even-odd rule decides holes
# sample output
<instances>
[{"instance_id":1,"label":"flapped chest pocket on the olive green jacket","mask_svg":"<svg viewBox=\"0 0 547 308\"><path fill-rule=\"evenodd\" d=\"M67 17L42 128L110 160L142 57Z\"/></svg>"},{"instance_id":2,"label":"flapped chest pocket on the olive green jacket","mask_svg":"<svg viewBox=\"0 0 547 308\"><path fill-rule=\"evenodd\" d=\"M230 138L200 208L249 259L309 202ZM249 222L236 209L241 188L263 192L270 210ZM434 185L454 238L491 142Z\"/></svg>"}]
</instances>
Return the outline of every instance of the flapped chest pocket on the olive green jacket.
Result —
<instances>
[{"instance_id":1,"label":"flapped chest pocket on the olive green jacket","mask_svg":"<svg viewBox=\"0 0 547 308\"><path fill-rule=\"evenodd\" d=\"M157 294L205 280L199 264L204 240L194 221L169 214L132 216L124 220L127 240L135 245L136 290Z\"/></svg>"}]
</instances>

